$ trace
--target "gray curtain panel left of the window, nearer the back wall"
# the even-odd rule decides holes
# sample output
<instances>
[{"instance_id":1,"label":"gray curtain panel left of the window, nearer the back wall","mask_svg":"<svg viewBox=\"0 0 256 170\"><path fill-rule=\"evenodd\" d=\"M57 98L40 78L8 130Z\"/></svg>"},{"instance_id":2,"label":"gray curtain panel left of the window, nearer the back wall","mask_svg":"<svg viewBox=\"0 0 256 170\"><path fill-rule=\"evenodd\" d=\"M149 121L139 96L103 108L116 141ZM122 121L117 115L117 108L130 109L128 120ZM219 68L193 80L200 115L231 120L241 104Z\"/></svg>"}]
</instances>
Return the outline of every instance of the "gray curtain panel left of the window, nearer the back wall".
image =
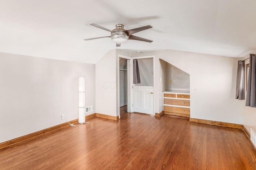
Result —
<instances>
[{"instance_id":1,"label":"gray curtain panel left of the window, nearer the back wall","mask_svg":"<svg viewBox=\"0 0 256 170\"><path fill-rule=\"evenodd\" d=\"M244 100L244 61L238 61L236 74L236 99Z\"/></svg>"}]
</instances>

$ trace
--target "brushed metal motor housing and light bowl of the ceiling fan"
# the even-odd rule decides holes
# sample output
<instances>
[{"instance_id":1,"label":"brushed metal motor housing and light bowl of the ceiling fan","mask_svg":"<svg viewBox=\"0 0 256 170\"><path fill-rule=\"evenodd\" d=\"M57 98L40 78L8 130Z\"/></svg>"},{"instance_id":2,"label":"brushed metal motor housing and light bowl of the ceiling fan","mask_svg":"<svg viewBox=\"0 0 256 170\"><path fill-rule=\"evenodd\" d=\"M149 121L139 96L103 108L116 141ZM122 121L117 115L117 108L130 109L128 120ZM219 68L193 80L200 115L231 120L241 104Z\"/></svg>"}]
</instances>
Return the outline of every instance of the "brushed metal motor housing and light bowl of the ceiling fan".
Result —
<instances>
[{"instance_id":1,"label":"brushed metal motor housing and light bowl of the ceiling fan","mask_svg":"<svg viewBox=\"0 0 256 170\"><path fill-rule=\"evenodd\" d=\"M121 44L128 41L129 36L126 33L124 33L126 29L124 29L123 24L116 24L116 29L113 29L112 31L113 32L111 33L111 39L115 43Z\"/></svg>"}]
</instances>

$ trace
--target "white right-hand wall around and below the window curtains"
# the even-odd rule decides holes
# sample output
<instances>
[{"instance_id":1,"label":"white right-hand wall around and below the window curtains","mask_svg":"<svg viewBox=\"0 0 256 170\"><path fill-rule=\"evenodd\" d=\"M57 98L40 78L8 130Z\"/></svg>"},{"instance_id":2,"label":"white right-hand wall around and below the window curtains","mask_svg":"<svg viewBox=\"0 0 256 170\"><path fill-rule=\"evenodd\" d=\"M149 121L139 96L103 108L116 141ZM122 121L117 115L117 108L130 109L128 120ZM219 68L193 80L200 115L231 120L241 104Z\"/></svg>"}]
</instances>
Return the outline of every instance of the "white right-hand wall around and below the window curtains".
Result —
<instances>
[{"instance_id":1,"label":"white right-hand wall around and below the window curtains","mask_svg":"<svg viewBox=\"0 0 256 170\"><path fill-rule=\"evenodd\" d=\"M255 54L256 52L254 52L253 54ZM249 58L250 56L248 55L247 57L245 57L244 59ZM249 59L245 61L245 64L249 63ZM245 76L244 76L245 77ZM245 79L246 80L246 79ZM245 93L245 98L246 98L246 93ZM244 126L246 127L246 129L250 132L250 128L252 128L252 130L254 132L256 132L256 108L255 107L249 107L249 106L245 106L245 101L244 100L244 104L243 104L243 111L244 111Z\"/></svg>"}]
</instances>

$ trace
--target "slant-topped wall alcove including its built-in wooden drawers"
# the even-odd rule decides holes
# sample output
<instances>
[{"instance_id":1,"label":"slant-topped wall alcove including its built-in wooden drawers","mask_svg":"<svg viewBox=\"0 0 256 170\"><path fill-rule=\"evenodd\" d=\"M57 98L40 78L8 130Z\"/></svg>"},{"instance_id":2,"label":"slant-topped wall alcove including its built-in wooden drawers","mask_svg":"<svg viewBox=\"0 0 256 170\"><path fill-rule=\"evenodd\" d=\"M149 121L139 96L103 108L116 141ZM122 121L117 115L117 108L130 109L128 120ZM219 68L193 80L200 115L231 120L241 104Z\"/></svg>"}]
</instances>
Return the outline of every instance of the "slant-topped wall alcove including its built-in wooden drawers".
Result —
<instances>
[{"instance_id":1,"label":"slant-topped wall alcove including its built-in wooden drawers","mask_svg":"<svg viewBox=\"0 0 256 170\"><path fill-rule=\"evenodd\" d=\"M190 117L190 74L160 59L164 114Z\"/></svg>"}]
</instances>

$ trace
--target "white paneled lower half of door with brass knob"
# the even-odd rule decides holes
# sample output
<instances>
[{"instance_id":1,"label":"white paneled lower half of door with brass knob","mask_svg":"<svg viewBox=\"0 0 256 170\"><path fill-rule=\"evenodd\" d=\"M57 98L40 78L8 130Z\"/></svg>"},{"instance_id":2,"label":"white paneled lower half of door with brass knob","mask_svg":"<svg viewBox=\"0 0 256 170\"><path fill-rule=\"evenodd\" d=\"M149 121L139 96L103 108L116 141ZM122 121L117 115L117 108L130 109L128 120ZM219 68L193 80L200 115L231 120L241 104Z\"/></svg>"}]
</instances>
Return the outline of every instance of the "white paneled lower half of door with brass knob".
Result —
<instances>
[{"instance_id":1,"label":"white paneled lower half of door with brass knob","mask_svg":"<svg viewBox=\"0 0 256 170\"><path fill-rule=\"evenodd\" d=\"M133 111L154 115L152 86L133 86Z\"/></svg>"}]
</instances>

